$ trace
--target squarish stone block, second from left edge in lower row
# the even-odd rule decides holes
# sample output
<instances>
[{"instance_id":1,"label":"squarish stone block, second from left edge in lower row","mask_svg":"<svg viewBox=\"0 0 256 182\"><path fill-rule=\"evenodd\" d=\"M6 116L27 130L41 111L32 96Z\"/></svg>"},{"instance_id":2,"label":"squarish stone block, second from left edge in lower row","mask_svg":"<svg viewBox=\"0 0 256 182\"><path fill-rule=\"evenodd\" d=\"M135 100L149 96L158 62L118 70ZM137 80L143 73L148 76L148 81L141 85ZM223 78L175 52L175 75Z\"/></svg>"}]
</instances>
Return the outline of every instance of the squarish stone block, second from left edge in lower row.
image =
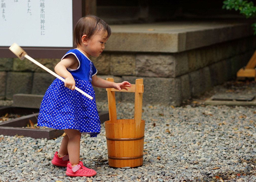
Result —
<instances>
[{"instance_id":1,"label":"squarish stone block, second from left edge in lower row","mask_svg":"<svg viewBox=\"0 0 256 182\"><path fill-rule=\"evenodd\" d=\"M13 99L14 94L31 94L33 73L8 72L6 84L6 99Z\"/></svg>"}]
</instances>

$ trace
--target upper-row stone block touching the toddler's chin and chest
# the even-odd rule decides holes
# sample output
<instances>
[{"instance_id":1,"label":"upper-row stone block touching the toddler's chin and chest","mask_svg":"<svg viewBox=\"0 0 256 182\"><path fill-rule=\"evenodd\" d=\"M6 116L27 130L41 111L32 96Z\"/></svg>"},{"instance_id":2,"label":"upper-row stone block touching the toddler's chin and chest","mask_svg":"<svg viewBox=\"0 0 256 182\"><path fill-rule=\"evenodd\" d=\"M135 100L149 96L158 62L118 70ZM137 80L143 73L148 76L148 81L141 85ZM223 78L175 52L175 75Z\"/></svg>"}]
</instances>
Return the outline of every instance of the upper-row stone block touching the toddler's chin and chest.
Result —
<instances>
[{"instance_id":1,"label":"upper-row stone block touching the toddler's chin and chest","mask_svg":"<svg viewBox=\"0 0 256 182\"><path fill-rule=\"evenodd\" d=\"M98 70L100 75L109 75L110 74L110 54L103 53L99 57L91 57L95 68Z\"/></svg>"}]
</instances>

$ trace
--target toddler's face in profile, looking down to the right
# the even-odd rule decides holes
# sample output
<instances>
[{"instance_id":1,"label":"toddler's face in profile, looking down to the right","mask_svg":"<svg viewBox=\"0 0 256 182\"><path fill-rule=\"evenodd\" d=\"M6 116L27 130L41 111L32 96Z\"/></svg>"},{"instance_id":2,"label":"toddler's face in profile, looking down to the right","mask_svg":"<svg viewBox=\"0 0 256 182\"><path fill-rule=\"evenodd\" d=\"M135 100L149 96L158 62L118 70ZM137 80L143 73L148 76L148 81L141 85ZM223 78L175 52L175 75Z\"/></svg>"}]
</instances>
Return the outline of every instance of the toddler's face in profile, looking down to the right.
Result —
<instances>
[{"instance_id":1,"label":"toddler's face in profile, looking down to the right","mask_svg":"<svg viewBox=\"0 0 256 182\"><path fill-rule=\"evenodd\" d=\"M89 40L87 40L87 48L85 52L93 57L98 57L105 48L105 43L108 40L106 38L107 36L107 32L98 32L93 35Z\"/></svg>"}]
</instances>

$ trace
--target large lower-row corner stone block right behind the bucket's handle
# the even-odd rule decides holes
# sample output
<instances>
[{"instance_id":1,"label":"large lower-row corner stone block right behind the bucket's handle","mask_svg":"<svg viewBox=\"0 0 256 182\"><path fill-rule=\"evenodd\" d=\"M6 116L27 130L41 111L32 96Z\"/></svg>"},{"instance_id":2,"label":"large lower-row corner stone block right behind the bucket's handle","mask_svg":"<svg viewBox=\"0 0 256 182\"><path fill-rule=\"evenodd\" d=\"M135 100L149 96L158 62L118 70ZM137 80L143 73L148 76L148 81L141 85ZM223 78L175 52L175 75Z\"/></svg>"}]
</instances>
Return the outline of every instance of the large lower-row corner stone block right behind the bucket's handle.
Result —
<instances>
[{"instance_id":1,"label":"large lower-row corner stone block right behind the bucket's handle","mask_svg":"<svg viewBox=\"0 0 256 182\"><path fill-rule=\"evenodd\" d=\"M123 76L123 80L135 84L136 79L143 79L143 105L161 104L178 106L181 104L181 83L178 78L150 78ZM134 103L134 93L123 93L122 102Z\"/></svg>"}]
</instances>

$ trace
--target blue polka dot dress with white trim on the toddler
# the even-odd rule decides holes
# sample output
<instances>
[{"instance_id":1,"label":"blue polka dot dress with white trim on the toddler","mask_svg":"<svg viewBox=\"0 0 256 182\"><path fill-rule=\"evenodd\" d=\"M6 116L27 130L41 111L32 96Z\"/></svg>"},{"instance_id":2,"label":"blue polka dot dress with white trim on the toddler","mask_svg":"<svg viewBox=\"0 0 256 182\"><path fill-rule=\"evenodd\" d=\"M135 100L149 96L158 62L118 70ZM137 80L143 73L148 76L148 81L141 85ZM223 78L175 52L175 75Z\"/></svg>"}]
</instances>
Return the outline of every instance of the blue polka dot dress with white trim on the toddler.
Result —
<instances>
[{"instance_id":1,"label":"blue polka dot dress with white trim on the toddler","mask_svg":"<svg viewBox=\"0 0 256 182\"><path fill-rule=\"evenodd\" d=\"M100 120L91 80L97 74L97 69L78 49L68 51L63 58L68 54L75 55L79 61L78 69L68 69L76 81L76 87L94 99L87 98L77 90L66 88L64 82L57 78L42 100L37 125L55 129L77 129L81 133L90 133L91 137L96 137L100 133Z\"/></svg>"}]
</instances>

